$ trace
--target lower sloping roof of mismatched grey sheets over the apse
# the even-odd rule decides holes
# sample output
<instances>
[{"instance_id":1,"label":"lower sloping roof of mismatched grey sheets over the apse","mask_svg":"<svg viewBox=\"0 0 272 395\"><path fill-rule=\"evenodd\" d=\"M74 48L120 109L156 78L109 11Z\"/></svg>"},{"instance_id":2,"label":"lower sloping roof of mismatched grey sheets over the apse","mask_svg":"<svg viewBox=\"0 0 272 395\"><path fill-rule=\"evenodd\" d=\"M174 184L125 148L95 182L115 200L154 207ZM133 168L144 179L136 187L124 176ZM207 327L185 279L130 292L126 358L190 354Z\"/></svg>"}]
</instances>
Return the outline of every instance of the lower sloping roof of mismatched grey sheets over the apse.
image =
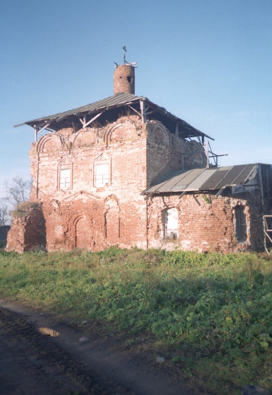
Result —
<instances>
[{"instance_id":1,"label":"lower sloping roof of mismatched grey sheets over the apse","mask_svg":"<svg viewBox=\"0 0 272 395\"><path fill-rule=\"evenodd\" d=\"M143 194L221 190L228 186L243 185L256 174L258 166L251 164L174 170L165 174Z\"/></svg>"}]
</instances>

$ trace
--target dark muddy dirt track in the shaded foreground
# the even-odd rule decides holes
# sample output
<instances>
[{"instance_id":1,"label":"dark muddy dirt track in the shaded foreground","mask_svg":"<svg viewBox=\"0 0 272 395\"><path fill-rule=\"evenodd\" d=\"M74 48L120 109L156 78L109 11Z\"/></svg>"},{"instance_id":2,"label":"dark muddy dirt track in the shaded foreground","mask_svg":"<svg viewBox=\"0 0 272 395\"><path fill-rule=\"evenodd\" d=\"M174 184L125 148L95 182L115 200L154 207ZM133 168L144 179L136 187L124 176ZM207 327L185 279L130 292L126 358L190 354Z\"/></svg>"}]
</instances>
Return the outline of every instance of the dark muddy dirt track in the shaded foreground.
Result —
<instances>
[{"instance_id":1,"label":"dark muddy dirt track in the shaded foreground","mask_svg":"<svg viewBox=\"0 0 272 395\"><path fill-rule=\"evenodd\" d=\"M135 355L118 336L72 328L52 316L0 301L2 395L193 395L156 356Z\"/></svg>"}]
</instances>

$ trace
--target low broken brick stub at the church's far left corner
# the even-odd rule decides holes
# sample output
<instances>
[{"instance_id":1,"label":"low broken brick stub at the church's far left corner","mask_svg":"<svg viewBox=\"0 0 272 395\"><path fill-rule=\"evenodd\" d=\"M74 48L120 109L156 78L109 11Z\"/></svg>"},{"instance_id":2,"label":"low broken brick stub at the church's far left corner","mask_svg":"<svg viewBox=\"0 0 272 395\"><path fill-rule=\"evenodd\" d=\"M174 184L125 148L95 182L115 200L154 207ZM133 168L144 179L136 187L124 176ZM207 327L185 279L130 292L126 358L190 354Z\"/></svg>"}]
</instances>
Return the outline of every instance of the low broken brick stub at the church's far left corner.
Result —
<instances>
[{"instance_id":1,"label":"low broken brick stub at the church's far left corner","mask_svg":"<svg viewBox=\"0 0 272 395\"><path fill-rule=\"evenodd\" d=\"M23 253L33 248L45 248L45 219L41 205L27 210L22 218L14 219L7 237L7 251Z\"/></svg>"}]
</instances>

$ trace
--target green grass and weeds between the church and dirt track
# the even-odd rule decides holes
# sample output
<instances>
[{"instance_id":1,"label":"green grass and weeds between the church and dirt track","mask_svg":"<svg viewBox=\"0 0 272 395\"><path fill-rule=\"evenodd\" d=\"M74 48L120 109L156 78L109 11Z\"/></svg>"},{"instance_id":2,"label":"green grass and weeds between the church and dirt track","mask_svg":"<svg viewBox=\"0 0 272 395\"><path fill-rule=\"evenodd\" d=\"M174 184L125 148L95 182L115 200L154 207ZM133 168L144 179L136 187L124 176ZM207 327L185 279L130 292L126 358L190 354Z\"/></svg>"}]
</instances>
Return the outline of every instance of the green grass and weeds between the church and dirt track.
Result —
<instances>
[{"instance_id":1,"label":"green grass and weeds between the church and dirt track","mask_svg":"<svg viewBox=\"0 0 272 395\"><path fill-rule=\"evenodd\" d=\"M109 248L0 252L0 295L146 342L208 393L272 389L272 258ZM68 317L68 318L67 318Z\"/></svg>"}]
</instances>

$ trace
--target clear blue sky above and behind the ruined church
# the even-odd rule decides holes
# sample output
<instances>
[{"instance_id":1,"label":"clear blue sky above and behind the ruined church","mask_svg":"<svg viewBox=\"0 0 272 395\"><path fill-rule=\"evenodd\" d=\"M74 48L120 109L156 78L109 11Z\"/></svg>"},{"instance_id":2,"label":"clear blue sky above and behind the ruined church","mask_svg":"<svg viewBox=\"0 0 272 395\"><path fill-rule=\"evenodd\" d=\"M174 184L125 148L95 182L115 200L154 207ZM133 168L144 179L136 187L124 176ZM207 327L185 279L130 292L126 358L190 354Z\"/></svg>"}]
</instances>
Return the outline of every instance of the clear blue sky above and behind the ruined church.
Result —
<instances>
[{"instance_id":1,"label":"clear blue sky above and behind the ruined church","mask_svg":"<svg viewBox=\"0 0 272 395\"><path fill-rule=\"evenodd\" d=\"M0 197L30 178L25 121L135 94L211 136L219 165L272 163L272 0L0 0Z\"/></svg>"}]
</instances>

